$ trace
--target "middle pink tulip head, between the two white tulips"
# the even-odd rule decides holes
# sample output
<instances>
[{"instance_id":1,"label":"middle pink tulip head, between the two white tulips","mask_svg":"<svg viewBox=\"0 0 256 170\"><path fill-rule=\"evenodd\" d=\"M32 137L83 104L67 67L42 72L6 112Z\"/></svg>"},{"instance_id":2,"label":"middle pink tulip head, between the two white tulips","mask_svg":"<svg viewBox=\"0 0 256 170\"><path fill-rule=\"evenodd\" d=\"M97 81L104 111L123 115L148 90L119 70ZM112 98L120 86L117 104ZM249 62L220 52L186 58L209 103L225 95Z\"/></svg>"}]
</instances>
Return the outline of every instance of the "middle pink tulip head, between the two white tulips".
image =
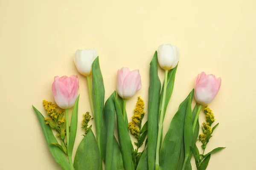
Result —
<instances>
[{"instance_id":1,"label":"middle pink tulip head, between the two white tulips","mask_svg":"<svg viewBox=\"0 0 256 170\"><path fill-rule=\"evenodd\" d=\"M117 93L123 99L129 99L141 88L139 70L129 71L121 68L117 71Z\"/></svg>"}]
</instances>

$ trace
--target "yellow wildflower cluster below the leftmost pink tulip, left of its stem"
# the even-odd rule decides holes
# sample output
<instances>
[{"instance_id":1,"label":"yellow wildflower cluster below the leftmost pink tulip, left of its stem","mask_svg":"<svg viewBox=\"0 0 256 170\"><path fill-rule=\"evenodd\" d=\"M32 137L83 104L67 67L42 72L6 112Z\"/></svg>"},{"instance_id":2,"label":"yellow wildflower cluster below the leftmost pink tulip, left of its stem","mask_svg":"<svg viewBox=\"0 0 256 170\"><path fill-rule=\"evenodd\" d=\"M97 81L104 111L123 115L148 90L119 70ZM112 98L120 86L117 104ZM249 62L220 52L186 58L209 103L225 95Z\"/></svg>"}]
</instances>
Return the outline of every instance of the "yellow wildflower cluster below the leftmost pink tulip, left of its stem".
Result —
<instances>
[{"instance_id":1,"label":"yellow wildflower cluster below the leftmost pink tulip, left of its stem","mask_svg":"<svg viewBox=\"0 0 256 170\"><path fill-rule=\"evenodd\" d=\"M63 117L64 111L58 109L58 106L52 102L43 100L44 109L47 111L49 117L44 118L45 124L49 125L57 131L57 136L62 139L65 138L65 118ZM62 134L62 136L61 136Z\"/></svg>"}]
</instances>

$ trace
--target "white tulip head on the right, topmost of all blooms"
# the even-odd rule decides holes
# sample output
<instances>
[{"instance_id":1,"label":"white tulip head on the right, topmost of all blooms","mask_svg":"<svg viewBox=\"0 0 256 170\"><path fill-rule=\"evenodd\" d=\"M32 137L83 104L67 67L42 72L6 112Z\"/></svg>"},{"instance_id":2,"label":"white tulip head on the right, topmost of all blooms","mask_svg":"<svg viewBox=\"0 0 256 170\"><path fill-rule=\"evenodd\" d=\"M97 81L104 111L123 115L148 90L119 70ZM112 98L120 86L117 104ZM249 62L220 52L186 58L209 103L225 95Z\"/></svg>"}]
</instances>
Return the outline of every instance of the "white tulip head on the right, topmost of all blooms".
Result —
<instances>
[{"instance_id":1,"label":"white tulip head on the right, topmost of all blooms","mask_svg":"<svg viewBox=\"0 0 256 170\"><path fill-rule=\"evenodd\" d=\"M162 44L157 49L157 60L161 68L170 70L175 68L179 62L180 50L169 43Z\"/></svg>"}]
</instances>

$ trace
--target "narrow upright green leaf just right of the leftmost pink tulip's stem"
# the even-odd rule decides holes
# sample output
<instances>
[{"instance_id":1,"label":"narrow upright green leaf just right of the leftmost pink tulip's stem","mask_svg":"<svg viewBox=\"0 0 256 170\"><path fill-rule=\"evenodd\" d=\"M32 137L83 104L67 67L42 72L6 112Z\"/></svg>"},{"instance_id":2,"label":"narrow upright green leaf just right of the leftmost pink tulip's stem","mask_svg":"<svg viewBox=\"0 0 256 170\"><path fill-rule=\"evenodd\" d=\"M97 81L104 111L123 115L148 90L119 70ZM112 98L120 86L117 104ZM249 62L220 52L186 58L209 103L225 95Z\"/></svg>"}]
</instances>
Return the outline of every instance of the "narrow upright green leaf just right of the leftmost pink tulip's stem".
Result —
<instances>
[{"instance_id":1,"label":"narrow upright green leaf just right of the leftmost pink tulip's stem","mask_svg":"<svg viewBox=\"0 0 256 170\"><path fill-rule=\"evenodd\" d=\"M70 140L69 144L67 147L67 153L68 155L72 155L73 152L73 147L75 144L75 139L76 139L76 130L77 130L77 119L78 119L78 103L79 103L79 96L76 99L74 108L73 108L73 113L71 116L71 122L70 122Z\"/></svg>"}]
</instances>

